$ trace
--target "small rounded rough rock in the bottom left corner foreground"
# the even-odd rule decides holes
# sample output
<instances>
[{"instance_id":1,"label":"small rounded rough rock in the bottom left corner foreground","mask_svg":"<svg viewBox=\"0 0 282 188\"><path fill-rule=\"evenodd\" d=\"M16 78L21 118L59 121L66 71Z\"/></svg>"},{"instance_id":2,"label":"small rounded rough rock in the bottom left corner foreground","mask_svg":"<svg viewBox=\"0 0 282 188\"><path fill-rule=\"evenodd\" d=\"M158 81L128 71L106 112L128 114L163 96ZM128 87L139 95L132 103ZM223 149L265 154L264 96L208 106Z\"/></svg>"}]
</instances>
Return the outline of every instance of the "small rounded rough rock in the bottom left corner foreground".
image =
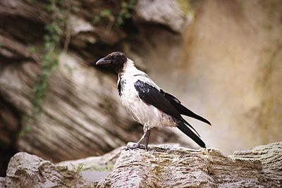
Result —
<instances>
[{"instance_id":1,"label":"small rounded rough rock in the bottom left corner foreground","mask_svg":"<svg viewBox=\"0 0 282 188\"><path fill-rule=\"evenodd\" d=\"M6 187L78 187L82 179L66 167L56 166L38 156L16 153L8 164Z\"/></svg>"}]
</instances>

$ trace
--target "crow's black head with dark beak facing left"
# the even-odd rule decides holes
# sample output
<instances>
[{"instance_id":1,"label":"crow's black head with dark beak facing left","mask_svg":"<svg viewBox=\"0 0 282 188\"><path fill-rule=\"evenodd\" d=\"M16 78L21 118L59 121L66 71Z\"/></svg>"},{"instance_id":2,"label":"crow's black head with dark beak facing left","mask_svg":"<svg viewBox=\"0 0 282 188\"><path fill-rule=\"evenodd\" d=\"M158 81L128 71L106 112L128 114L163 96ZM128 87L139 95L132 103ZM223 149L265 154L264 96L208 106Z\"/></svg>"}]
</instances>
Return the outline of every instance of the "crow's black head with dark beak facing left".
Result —
<instances>
[{"instance_id":1,"label":"crow's black head with dark beak facing left","mask_svg":"<svg viewBox=\"0 0 282 188\"><path fill-rule=\"evenodd\" d=\"M125 56L125 54L119 51L115 51L104 58L100 58L96 62L96 65L109 64L114 68L116 73L121 73L121 71L123 70L123 65L127 61L127 59L128 58Z\"/></svg>"}]
</instances>

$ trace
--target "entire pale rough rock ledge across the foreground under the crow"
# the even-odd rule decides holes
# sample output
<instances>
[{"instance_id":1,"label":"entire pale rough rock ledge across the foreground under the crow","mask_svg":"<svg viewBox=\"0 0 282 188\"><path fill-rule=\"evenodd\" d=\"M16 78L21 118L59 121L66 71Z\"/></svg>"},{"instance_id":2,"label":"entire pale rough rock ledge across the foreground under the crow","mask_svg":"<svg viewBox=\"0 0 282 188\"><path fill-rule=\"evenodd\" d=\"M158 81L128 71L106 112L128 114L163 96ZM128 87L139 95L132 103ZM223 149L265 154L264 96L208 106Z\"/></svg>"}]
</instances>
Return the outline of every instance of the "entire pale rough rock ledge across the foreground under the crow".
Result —
<instances>
[{"instance_id":1,"label":"entire pale rough rock ledge across the foreground under the crow","mask_svg":"<svg viewBox=\"0 0 282 188\"><path fill-rule=\"evenodd\" d=\"M103 173L102 169L109 163L115 163L114 168L112 171L106 168L108 171ZM5 180L1 181L3 184ZM277 142L257 146L250 151L236 151L232 156L226 156L218 149L192 150L173 145L149 146L149 151L118 148L104 156L57 165L28 153L17 153L8 165L5 185L281 187L281 184L282 142Z\"/></svg>"}]
</instances>

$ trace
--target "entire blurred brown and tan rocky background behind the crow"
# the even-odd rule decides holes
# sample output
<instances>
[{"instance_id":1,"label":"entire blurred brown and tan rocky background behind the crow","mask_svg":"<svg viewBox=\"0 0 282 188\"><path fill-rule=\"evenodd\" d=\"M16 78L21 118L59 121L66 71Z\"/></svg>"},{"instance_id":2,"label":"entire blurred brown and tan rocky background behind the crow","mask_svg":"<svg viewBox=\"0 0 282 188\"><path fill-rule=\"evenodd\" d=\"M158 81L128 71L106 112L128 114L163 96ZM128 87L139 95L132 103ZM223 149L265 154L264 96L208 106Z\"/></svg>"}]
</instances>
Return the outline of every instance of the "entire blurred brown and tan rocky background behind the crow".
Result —
<instances>
[{"instance_id":1,"label":"entire blurred brown and tan rocky background behind the crow","mask_svg":"<svg viewBox=\"0 0 282 188\"><path fill-rule=\"evenodd\" d=\"M17 151L53 162L137 141L116 74L91 63L124 51L212 127L226 153L281 141L282 1L1 0L0 176ZM174 129L151 143L195 146Z\"/></svg>"}]
</instances>

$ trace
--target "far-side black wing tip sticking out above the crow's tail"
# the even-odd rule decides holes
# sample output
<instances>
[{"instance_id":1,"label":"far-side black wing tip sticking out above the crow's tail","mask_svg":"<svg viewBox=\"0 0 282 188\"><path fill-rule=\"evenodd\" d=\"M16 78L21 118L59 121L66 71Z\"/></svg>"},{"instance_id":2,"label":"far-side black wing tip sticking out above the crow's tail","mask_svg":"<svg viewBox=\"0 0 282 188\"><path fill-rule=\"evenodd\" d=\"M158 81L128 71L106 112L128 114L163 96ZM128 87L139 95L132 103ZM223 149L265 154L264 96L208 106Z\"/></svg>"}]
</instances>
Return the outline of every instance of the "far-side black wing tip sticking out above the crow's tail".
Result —
<instances>
[{"instance_id":1,"label":"far-side black wing tip sticking out above the crow's tail","mask_svg":"<svg viewBox=\"0 0 282 188\"><path fill-rule=\"evenodd\" d=\"M166 92L164 92L163 90L161 90L161 93L164 94L164 97L166 97L166 99L168 99L168 101L174 106L174 108L176 108L176 110L183 115L187 115L191 118L195 118L197 120L200 120L204 123L207 123L209 125L212 125L211 123L209 123L208 120L206 120L205 118L201 117L200 115L197 115L196 113L193 113L192 111L190 111L188 108L186 108L185 106L183 106L181 104L181 102L176 99L175 96L168 94Z\"/></svg>"}]
</instances>

